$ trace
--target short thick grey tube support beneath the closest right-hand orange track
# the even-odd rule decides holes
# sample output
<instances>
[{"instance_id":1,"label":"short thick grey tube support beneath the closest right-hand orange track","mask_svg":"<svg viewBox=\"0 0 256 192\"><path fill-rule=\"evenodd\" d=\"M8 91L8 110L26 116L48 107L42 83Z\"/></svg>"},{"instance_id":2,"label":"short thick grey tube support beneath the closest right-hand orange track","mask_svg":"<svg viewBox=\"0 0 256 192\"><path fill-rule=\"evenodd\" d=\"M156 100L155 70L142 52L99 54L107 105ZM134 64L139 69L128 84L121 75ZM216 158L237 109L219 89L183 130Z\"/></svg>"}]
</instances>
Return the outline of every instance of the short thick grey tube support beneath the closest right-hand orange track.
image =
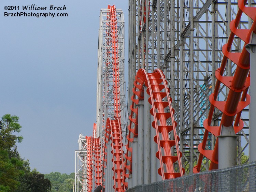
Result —
<instances>
[{"instance_id":1,"label":"short thick grey tube support beneath the closest right-hand orange track","mask_svg":"<svg viewBox=\"0 0 256 192\"><path fill-rule=\"evenodd\" d=\"M232 167L237 164L237 136L233 125L225 127L222 125L219 139L219 169Z\"/></svg>"}]
</instances>

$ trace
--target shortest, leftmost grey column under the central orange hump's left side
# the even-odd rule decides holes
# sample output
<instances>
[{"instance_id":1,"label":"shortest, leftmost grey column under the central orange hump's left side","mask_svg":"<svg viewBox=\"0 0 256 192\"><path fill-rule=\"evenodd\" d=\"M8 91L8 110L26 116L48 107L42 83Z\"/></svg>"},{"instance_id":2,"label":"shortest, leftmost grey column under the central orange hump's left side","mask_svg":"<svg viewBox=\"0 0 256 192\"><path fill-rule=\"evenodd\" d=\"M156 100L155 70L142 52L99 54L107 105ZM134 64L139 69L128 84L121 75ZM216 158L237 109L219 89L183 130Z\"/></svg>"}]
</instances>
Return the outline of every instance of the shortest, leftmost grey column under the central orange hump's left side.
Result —
<instances>
[{"instance_id":1,"label":"shortest, leftmost grey column under the central orange hump's left side","mask_svg":"<svg viewBox=\"0 0 256 192\"><path fill-rule=\"evenodd\" d=\"M132 187L138 185L138 137L132 142Z\"/></svg>"}]
</instances>

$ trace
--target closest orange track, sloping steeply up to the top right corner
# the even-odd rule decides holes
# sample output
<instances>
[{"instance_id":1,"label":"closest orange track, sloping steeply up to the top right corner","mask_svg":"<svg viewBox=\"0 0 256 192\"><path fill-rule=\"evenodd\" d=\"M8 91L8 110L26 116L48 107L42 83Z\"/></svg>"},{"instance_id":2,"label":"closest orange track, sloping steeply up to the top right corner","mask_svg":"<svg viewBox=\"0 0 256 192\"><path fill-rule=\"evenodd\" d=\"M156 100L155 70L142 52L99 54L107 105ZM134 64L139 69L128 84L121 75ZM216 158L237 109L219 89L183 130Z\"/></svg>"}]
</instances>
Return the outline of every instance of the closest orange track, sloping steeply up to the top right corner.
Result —
<instances>
[{"instance_id":1,"label":"closest orange track, sloping steeply up to the top right corner","mask_svg":"<svg viewBox=\"0 0 256 192\"><path fill-rule=\"evenodd\" d=\"M225 44L222 48L224 57L221 67L218 68L215 72L217 82L214 92L209 97L211 107L208 118L205 119L203 122L205 132L203 136L203 141L198 146L200 155L198 163L193 169L194 173L200 172L203 157L211 160L209 170L218 169L218 138L216 139L213 150L205 150L209 132L216 137L219 136L222 125L224 125L225 127L231 126L233 124L235 116L236 120L234 122L234 132L238 133L243 129L243 121L240 119L241 112L248 104L250 104L250 95L247 94L248 87L250 86L250 75L248 76L248 73L250 71L250 55L245 49L245 45L249 43L252 31L256 33L256 8L246 7L246 2L247 0L238 1L239 10L236 18L230 23L231 33L228 39L228 43ZM238 29L242 13L245 13L254 20L250 30ZM231 50L232 42L235 35L237 35L241 40L245 42L241 53L229 52ZM230 59L237 65L236 72L234 73L233 77L223 76L228 59ZM226 101L216 101L221 83L229 88L229 93ZM223 112L220 126L211 126L215 107Z\"/></svg>"}]
</instances>

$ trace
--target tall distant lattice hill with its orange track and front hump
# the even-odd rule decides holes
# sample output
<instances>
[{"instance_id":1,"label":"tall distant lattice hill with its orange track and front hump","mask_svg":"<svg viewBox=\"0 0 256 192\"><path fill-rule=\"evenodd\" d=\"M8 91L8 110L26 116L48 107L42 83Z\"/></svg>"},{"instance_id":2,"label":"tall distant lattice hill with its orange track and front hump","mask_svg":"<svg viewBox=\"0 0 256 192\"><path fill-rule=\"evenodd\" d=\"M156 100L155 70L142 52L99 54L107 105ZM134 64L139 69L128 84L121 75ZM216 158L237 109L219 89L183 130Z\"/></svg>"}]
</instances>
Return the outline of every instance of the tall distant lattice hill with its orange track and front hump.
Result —
<instances>
[{"instance_id":1,"label":"tall distant lattice hill with its orange track and front hump","mask_svg":"<svg viewBox=\"0 0 256 192\"><path fill-rule=\"evenodd\" d=\"M102 188L103 191L110 191L114 187L115 191L120 191L124 168L121 163L123 161L120 162L123 158L122 132L125 131L127 105L124 79L124 15L115 5L109 5L108 9L100 11L98 59L96 120L103 160ZM111 129L105 127L107 122ZM111 132L107 134L108 130ZM108 135L111 137L106 137Z\"/></svg>"}]
</instances>

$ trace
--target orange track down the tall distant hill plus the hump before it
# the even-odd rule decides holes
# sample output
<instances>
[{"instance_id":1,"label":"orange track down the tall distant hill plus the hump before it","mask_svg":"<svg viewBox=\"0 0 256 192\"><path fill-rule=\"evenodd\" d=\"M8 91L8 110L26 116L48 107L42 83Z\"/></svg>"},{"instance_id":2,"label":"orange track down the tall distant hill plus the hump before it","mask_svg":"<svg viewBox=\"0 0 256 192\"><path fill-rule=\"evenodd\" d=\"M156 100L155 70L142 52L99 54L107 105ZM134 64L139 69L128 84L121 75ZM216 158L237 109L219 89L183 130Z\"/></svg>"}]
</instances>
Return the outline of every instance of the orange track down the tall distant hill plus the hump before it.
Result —
<instances>
[{"instance_id":1,"label":"orange track down the tall distant hill plus the hump before it","mask_svg":"<svg viewBox=\"0 0 256 192\"><path fill-rule=\"evenodd\" d=\"M107 165L107 154L106 144L111 142L112 147L112 162L113 162L113 179L115 191L122 191L122 178L124 170L124 156L123 156L123 144L122 144L122 128L120 123L120 82L119 82L119 62L118 62L118 36L117 36L117 19L116 19L116 8L115 5L108 5L109 20L110 24L108 26L111 31L108 32L108 36L112 37L111 47L112 47L112 64L113 64L113 90L114 90L114 120L110 118L106 121L105 135L104 135L104 149L103 149L103 161L104 168ZM108 45L110 43L108 42ZM108 53L109 54L109 53ZM110 63L108 63L110 64ZM104 170L102 170L103 181L105 181ZM104 188L104 186L103 186Z\"/></svg>"}]
</instances>

